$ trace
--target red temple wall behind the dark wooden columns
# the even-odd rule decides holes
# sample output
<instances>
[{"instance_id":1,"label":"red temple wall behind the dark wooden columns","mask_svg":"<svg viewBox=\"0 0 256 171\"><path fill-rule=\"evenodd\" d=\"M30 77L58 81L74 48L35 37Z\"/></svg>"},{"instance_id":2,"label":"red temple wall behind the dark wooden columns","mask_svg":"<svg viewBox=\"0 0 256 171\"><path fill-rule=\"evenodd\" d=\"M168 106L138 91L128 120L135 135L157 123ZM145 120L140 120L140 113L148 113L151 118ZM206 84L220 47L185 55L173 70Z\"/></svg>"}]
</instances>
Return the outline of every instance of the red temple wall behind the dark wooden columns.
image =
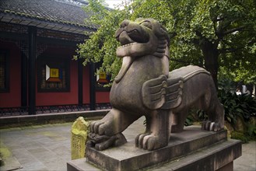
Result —
<instances>
[{"instance_id":1,"label":"red temple wall behind the dark wooden columns","mask_svg":"<svg viewBox=\"0 0 256 171\"><path fill-rule=\"evenodd\" d=\"M9 92L0 92L0 107L21 106L21 51L14 43L0 43L1 49L9 50ZM70 92L37 92L37 106L78 103L78 65L72 60L72 48L48 48L45 52L56 57L70 59ZM37 79L36 79L37 80ZM37 82L36 82L37 90ZM89 66L83 67L82 98L89 103ZM96 92L96 103L109 103L110 92Z\"/></svg>"}]
</instances>

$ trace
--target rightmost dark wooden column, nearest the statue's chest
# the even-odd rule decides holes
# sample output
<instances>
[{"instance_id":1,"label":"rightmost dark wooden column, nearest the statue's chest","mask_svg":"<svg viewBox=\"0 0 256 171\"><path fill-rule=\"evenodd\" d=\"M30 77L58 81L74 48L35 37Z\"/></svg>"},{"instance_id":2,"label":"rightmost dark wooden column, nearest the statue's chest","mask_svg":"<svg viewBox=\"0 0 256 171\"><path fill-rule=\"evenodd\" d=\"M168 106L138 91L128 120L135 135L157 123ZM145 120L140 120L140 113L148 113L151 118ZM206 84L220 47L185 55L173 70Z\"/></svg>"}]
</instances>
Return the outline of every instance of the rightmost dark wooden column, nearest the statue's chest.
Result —
<instances>
[{"instance_id":1,"label":"rightmost dark wooden column, nearest the statue's chest","mask_svg":"<svg viewBox=\"0 0 256 171\"><path fill-rule=\"evenodd\" d=\"M96 110L96 78L95 78L95 64L89 64L89 108Z\"/></svg>"}]
</instances>

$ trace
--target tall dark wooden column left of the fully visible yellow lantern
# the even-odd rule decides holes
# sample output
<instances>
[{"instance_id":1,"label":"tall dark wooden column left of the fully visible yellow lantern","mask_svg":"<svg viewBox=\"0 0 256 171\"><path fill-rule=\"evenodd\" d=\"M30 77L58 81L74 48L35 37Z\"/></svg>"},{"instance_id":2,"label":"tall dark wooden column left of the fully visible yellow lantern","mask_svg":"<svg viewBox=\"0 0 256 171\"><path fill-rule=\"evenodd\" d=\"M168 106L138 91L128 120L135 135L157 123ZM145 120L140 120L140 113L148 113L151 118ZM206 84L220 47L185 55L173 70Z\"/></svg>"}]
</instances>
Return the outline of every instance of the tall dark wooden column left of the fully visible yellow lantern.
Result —
<instances>
[{"instance_id":1,"label":"tall dark wooden column left of the fully visible yellow lantern","mask_svg":"<svg viewBox=\"0 0 256 171\"><path fill-rule=\"evenodd\" d=\"M29 27L29 114L36 114L36 37L37 27Z\"/></svg>"}]
</instances>

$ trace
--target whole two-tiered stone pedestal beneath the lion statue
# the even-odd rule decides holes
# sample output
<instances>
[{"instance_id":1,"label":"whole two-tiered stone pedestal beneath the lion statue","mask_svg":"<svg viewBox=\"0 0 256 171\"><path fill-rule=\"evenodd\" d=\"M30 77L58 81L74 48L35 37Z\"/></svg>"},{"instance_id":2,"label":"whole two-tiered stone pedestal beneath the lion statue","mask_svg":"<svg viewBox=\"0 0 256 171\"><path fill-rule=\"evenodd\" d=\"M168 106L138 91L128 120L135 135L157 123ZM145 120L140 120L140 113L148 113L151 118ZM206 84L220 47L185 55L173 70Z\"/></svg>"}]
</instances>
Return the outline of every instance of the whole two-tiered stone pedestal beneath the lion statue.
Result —
<instances>
[{"instance_id":1,"label":"whole two-tiered stone pedestal beneath the lion statue","mask_svg":"<svg viewBox=\"0 0 256 171\"><path fill-rule=\"evenodd\" d=\"M129 141L118 148L102 152L86 148L86 159L68 162L73 170L233 170L233 160L241 155L241 142L226 139L226 131L202 131L185 127L172 134L165 148L149 152Z\"/></svg>"}]
</instances>

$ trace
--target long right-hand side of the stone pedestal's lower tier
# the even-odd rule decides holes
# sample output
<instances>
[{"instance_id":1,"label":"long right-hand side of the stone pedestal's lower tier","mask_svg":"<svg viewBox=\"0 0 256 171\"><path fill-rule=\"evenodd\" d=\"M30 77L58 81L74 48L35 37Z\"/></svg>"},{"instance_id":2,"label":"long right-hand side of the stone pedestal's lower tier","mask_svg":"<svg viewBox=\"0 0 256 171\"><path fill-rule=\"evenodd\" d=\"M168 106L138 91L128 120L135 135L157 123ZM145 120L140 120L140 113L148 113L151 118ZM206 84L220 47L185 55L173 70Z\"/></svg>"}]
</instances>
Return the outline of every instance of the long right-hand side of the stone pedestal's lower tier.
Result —
<instances>
[{"instance_id":1,"label":"long right-hand side of the stone pedestal's lower tier","mask_svg":"<svg viewBox=\"0 0 256 171\"><path fill-rule=\"evenodd\" d=\"M233 171L233 160L241 156L241 150L240 141L229 139L147 170Z\"/></svg>"}]
</instances>

